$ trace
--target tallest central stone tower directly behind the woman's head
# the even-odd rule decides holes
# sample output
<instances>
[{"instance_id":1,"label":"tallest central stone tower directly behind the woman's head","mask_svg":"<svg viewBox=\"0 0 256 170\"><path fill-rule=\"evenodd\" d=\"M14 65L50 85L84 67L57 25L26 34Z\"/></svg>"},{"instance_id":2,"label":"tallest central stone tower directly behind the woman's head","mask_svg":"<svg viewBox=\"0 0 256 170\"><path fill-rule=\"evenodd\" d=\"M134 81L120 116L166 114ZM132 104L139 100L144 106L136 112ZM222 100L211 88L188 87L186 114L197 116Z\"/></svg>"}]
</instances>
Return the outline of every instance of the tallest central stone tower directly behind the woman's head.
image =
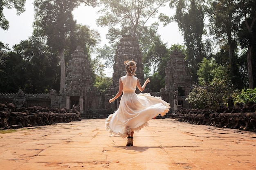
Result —
<instances>
[{"instance_id":1,"label":"tallest central stone tower directly behind the woman's head","mask_svg":"<svg viewBox=\"0 0 256 170\"><path fill-rule=\"evenodd\" d=\"M142 64L142 55L139 49L139 42L137 38L133 38L130 35L124 35L121 38L120 43L117 45L116 54L115 54L115 64L113 66L114 73L113 77L113 86L114 88L119 87L119 78L126 75L126 69L124 61L133 60L137 64L136 77L138 77L141 83L144 82Z\"/></svg>"}]
</instances>

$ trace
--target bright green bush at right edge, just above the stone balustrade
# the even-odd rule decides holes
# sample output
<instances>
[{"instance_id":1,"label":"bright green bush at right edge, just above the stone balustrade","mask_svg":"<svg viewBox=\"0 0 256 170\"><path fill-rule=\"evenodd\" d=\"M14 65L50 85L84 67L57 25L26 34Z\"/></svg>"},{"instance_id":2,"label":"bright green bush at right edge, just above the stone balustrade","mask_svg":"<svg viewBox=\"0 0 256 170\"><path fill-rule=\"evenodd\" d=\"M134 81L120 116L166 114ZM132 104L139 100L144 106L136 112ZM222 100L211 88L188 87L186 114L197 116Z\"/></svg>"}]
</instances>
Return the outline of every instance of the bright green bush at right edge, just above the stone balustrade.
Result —
<instances>
[{"instance_id":1,"label":"bright green bush at right edge, just above the stone balustrade","mask_svg":"<svg viewBox=\"0 0 256 170\"><path fill-rule=\"evenodd\" d=\"M247 88L243 89L240 94L235 97L235 102L247 103L255 102L256 103L256 88Z\"/></svg>"}]
</instances>

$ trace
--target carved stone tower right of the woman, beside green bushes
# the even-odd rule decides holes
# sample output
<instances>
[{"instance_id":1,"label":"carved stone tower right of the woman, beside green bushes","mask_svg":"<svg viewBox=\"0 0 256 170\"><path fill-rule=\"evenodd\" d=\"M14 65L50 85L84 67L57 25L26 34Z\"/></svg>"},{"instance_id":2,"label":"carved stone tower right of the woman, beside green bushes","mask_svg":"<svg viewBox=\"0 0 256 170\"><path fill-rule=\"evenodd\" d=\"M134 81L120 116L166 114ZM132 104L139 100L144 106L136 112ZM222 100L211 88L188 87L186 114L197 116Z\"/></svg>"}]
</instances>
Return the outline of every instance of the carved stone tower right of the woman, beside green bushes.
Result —
<instances>
[{"instance_id":1,"label":"carved stone tower right of the woman, beside green bushes","mask_svg":"<svg viewBox=\"0 0 256 170\"><path fill-rule=\"evenodd\" d=\"M191 76L184 58L185 55L180 51L173 52L165 68L166 89L170 91L170 104L174 110L178 105L189 108L189 103L185 99L191 91Z\"/></svg>"}]
</instances>

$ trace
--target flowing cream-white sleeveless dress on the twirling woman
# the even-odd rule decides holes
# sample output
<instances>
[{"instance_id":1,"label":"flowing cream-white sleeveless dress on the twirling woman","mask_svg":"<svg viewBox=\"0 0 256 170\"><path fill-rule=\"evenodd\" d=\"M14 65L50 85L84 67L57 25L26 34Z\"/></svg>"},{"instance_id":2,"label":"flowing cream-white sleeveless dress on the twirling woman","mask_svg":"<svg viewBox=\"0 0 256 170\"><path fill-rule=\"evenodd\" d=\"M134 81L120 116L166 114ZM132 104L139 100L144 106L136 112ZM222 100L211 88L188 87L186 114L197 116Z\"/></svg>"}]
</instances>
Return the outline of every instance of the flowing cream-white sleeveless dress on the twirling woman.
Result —
<instances>
[{"instance_id":1,"label":"flowing cream-white sleeveless dress on the twirling woman","mask_svg":"<svg viewBox=\"0 0 256 170\"><path fill-rule=\"evenodd\" d=\"M127 137L127 133L139 131L148 126L148 121L159 114L168 113L170 104L161 97L151 96L149 93L135 93L137 77L125 75L121 77L123 95L119 108L106 119L106 130L112 136Z\"/></svg>"}]
</instances>

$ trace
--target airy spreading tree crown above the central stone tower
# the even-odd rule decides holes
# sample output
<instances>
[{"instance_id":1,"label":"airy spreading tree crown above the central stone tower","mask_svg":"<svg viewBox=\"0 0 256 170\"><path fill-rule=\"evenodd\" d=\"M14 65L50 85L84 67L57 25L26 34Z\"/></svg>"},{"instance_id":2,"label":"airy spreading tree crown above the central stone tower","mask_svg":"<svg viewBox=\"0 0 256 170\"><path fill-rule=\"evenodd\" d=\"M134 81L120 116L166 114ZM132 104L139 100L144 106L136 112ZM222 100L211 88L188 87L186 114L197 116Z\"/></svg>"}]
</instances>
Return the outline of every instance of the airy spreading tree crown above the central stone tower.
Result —
<instances>
[{"instance_id":1,"label":"airy spreading tree crown above the central stone tower","mask_svg":"<svg viewBox=\"0 0 256 170\"><path fill-rule=\"evenodd\" d=\"M97 19L97 24L109 27L107 38L111 43L122 35L139 39L148 20L155 17L166 2L168 0L101 0L104 8L98 13L103 15Z\"/></svg>"}]
</instances>

